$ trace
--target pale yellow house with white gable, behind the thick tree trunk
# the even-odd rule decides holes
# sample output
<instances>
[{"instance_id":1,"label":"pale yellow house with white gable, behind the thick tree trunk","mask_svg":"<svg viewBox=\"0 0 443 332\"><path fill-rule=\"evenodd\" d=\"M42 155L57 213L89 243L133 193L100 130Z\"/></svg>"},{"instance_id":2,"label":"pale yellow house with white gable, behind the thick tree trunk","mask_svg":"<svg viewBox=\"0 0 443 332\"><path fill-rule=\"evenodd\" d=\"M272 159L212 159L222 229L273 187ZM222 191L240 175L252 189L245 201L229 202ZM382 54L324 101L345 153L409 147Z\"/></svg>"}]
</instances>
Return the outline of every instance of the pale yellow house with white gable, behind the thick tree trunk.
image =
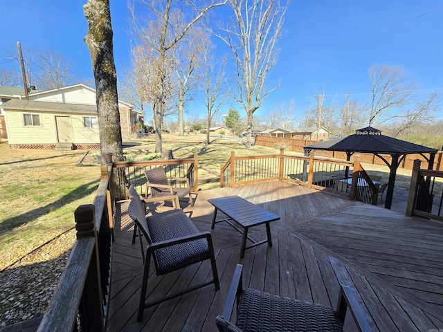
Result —
<instances>
[{"instance_id":1,"label":"pale yellow house with white gable, behind the thick tree trunk","mask_svg":"<svg viewBox=\"0 0 443 332\"><path fill-rule=\"evenodd\" d=\"M11 146L53 149L70 142L73 149L100 147L95 89L84 84L30 89L29 100L22 93L19 88L0 89L0 118ZM118 109L122 138L130 139L132 125L143 123L142 113L120 100Z\"/></svg>"}]
</instances>

